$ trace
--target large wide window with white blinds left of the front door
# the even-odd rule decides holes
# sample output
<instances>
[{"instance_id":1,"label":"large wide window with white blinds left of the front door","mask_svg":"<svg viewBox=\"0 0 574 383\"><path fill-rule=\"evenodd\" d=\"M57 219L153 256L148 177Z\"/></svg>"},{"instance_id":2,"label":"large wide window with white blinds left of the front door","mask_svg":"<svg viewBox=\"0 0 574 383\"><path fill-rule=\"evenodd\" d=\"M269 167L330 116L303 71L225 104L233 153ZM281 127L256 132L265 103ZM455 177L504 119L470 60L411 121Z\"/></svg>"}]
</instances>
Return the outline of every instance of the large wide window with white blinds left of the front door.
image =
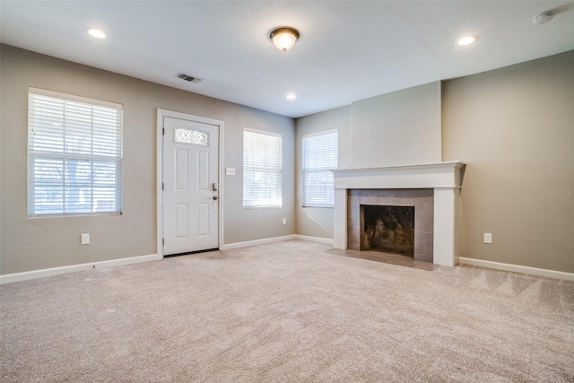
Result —
<instances>
[{"instance_id":1,"label":"large wide window with white blinds left of the front door","mask_svg":"<svg viewBox=\"0 0 574 383\"><path fill-rule=\"evenodd\" d=\"M30 88L28 216L121 213L122 105Z\"/></svg>"}]
</instances>

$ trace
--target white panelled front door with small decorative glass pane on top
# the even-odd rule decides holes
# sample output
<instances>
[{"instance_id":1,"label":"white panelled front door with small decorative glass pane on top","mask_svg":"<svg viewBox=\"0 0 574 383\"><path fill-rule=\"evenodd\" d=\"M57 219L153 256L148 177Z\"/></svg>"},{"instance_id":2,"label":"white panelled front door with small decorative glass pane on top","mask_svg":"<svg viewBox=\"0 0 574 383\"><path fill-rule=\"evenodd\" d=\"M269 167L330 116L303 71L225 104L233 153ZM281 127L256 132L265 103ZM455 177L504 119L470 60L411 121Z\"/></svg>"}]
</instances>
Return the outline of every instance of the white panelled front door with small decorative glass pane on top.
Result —
<instances>
[{"instance_id":1,"label":"white panelled front door with small decorative glass pane on top","mask_svg":"<svg viewBox=\"0 0 574 383\"><path fill-rule=\"evenodd\" d=\"M164 255L219 247L218 162L218 125L163 117Z\"/></svg>"}]
</instances>

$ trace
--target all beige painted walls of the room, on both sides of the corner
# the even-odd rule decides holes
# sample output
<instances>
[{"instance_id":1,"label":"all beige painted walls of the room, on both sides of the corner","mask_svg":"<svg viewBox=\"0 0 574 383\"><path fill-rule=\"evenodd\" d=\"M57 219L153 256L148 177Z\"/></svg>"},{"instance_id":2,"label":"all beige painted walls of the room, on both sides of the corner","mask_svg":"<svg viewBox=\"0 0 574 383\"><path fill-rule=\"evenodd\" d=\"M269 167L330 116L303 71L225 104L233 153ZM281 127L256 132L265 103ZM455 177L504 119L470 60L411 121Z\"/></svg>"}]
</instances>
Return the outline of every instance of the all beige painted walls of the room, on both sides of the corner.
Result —
<instances>
[{"instance_id":1,"label":"all beige painted walls of the room, on both sides of the corner","mask_svg":"<svg viewBox=\"0 0 574 383\"><path fill-rule=\"evenodd\" d=\"M391 152L404 164L440 161L440 152L468 164L463 257L574 272L574 51L447 81L442 96L431 83L357 101L299 118L296 129L291 118L18 48L2 46L1 60L0 274L155 254L158 108L224 121L222 168L236 169L223 176L225 244L333 238L332 209L300 206L300 137L337 128L340 168L396 164ZM123 215L27 219L29 86L124 104ZM281 209L242 208L243 127L283 135ZM90 246L80 246L82 232Z\"/></svg>"}]
</instances>

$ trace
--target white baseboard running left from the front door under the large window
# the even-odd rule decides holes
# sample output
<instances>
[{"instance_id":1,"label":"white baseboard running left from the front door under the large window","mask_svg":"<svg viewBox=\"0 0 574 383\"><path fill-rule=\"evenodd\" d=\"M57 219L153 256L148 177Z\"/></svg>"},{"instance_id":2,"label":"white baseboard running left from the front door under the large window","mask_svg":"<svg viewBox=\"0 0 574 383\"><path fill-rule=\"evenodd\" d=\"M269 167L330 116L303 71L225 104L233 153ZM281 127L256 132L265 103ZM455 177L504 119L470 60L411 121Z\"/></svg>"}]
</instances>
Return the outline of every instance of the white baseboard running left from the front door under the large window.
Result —
<instances>
[{"instance_id":1,"label":"white baseboard running left from the front door under the large window","mask_svg":"<svg viewBox=\"0 0 574 383\"><path fill-rule=\"evenodd\" d=\"M92 262L89 264L67 265L61 267L46 268L41 270L26 271L23 273L4 274L0 275L0 284L27 281L29 279L43 278L45 276L54 276L59 274L74 273L76 271L85 271L100 267L139 264L141 262L155 261L157 259L160 259L157 256L157 254L151 254L149 256L110 259L109 261Z\"/></svg>"}]
</instances>

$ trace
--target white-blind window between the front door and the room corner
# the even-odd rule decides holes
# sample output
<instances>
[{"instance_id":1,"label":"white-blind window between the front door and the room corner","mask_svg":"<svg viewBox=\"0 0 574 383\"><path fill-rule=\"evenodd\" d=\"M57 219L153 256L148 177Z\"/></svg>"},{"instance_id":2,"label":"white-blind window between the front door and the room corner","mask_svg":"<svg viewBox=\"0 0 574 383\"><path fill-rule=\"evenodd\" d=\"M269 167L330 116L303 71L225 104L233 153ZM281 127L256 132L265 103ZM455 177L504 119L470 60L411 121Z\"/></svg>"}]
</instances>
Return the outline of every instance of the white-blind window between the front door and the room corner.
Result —
<instances>
[{"instance_id":1,"label":"white-blind window between the front door and the room corner","mask_svg":"<svg viewBox=\"0 0 574 383\"><path fill-rule=\"evenodd\" d=\"M282 154L281 135L243 131L243 207L281 207Z\"/></svg>"}]
</instances>

